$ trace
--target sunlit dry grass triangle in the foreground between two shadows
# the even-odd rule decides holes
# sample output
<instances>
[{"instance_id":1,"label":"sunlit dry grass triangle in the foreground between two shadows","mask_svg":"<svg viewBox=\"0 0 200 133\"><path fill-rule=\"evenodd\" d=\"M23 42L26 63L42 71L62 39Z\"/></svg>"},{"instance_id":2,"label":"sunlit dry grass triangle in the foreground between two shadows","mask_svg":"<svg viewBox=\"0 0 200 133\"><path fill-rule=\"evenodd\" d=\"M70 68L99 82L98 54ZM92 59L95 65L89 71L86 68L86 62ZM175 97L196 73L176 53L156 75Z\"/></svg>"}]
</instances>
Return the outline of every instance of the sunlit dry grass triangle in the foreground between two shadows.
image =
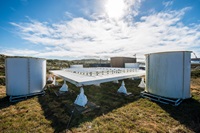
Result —
<instances>
[{"instance_id":1,"label":"sunlit dry grass triangle in the foreground between two shadows","mask_svg":"<svg viewBox=\"0 0 200 133\"><path fill-rule=\"evenodd\" d=\"M82 130L84 129L84 130ZM112 112L83 123L73 132L147 132L166 133L180 131L192 133L186 125L174 119L158 104L139 99Z\"/></svg>"}]
</instances>

